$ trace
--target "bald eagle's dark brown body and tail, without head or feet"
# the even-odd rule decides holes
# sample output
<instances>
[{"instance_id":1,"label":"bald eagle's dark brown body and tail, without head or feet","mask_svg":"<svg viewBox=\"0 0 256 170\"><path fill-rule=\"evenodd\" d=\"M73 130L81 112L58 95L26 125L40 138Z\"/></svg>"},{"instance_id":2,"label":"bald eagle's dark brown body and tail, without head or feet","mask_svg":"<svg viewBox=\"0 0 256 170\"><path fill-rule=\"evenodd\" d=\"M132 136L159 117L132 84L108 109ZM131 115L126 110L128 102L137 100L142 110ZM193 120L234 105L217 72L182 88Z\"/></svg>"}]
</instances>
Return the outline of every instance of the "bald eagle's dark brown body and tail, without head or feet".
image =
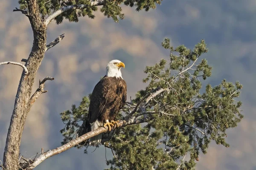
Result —
<instances>
[{"instance_id":1,"label":"bald eagle's dark brown body and tail, without head or feet","mask_svg":"<svg viewBox=\"0 0 256 170\"><path fill-rule=\"evenodd\" d=\"M102 126L106 120L116 119L125 105L127 86L121 77L103 77L94 87L90 99L87 132ZM102 135L90 139L91 145L98 145Z\"/></svg>"}]
</instances>

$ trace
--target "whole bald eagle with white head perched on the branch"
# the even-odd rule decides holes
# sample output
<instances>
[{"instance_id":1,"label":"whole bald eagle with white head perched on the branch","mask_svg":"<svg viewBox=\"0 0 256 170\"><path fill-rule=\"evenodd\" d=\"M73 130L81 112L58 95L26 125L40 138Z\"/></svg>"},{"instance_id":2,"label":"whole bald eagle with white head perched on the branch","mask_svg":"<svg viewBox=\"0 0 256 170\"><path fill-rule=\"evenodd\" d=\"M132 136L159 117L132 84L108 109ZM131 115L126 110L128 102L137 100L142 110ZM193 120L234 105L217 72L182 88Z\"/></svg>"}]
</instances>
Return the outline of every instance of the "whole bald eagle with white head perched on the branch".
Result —
<instances>
[{"instance_id":1,"label":"whole bald eagle with white head perched on the branch","mask_svg":"<svg viewBox=\"0 0 256 170\"><path fill-rule=\"evenodd\" d=\"M106 75L94 87L90 97L89 113L86 122L87 132L96 130L104 124L111 128L118 125L117 113L125 105L127 86L122 78L121 67L125 64L117 59L110 61L106 66ZM89 139L91 146L97 146L102 134Z\"/></svg>"}]
</instances>

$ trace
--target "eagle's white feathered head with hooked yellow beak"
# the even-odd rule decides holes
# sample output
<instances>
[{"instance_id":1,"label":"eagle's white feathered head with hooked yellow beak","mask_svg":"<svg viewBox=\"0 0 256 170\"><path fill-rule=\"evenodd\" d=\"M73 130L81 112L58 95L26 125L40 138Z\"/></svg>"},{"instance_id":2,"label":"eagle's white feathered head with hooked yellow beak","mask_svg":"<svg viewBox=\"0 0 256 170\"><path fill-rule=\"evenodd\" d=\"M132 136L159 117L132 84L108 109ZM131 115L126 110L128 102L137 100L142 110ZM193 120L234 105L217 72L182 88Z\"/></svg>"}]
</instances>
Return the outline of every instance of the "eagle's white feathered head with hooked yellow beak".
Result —
<instances>
[{"instance_id":1,"label":"eagle's white feathered head with hooked yellow beak","mask_svg":"<svg viewBox=\"0 0 256 170\"><path fill-rule=\"evenodd\" d=\"M122 73L121 73L121 67L125 68L125 64L121 61L119 61L118 59L113 59L111 60L106 67L106 76L108 77L116 77L122 78Z\"/></svg>"}]
</instances>

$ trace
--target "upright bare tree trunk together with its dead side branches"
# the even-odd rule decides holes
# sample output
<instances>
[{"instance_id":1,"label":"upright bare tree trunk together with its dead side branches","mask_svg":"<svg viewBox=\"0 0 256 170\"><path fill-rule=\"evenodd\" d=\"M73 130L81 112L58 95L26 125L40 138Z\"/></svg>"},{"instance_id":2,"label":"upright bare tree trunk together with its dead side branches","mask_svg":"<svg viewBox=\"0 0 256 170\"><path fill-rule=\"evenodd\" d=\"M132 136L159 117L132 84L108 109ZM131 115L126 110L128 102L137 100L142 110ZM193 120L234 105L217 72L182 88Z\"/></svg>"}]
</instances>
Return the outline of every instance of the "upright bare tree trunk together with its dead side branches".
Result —
<instances>
[{"instance_id":1,"label":"upright bare tree trunk together with its dead side branches","mask_svg":"<svg viewBox=\"0 0 256 170\"><path fill-rule=\"evenodd\" d=\"M44 82L46 80L53 80L53 77L46 77L39 83L39 88L33 95L32 86L35 80L35 74L38 71L42 60L44 59L45 51L58 44L63 39L64 34L58 36L49 45L46 45L47 40L47 26L48 24L58 15L65 11L74 9L87 8L87 4L71 5L59 8L50 14L45 20L41 17L37 0L27 0L27 10L16 8L13 11L20 11L22 14L29 18L32 30L33 30L33 46L28 59L22 59L21 61L26 62L25 65L18 62L0 62L2 64L15 64L23 67L23 73L21 74L20 83L17 89L15 105L12 112L11 122L8 129L6 138L6 146L3 155L3 168L4 170L18 170L18 157L20 154L20 141L23 133L24 125L26 122L26 116L28 115L33 103L38 96L44 91ZM101 6L104 3L102 0L96 0L91 2L93 6ZM35 167L35 166L34 166Z\"/></svg>"}]
</instances>

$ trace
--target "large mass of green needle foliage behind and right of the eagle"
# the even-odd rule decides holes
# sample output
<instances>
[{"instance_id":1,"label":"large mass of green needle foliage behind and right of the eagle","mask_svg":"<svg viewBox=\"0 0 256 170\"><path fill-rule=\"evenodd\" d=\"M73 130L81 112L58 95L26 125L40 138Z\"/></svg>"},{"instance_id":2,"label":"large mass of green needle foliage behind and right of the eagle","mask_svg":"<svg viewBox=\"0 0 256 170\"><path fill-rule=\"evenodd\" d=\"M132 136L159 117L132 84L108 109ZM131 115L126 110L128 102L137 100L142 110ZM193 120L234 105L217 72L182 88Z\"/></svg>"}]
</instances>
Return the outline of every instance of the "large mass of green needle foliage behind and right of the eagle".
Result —
<instances>
[{"instance_id":1,"label":"large mass of green needle foliage behind and right of the eagle","mask_svg":"<svg viewBox=\"0 0 256 170\"><path fill-rule=\"evenodd\" d=\"M129 125L112 131L112 134L104 134L104 139L108 136L105 147L114 154L113 159L106 162L108 170L195 169L199 153L207 153L212 140L229 147L225 141L226 130L236 127L243 118L239 109L241 102L235 100L242 88L239 82L233 84L224 79L215 87L208 84L205 92L200 94L200 78L207 79L212 69L205 59L198 62L198 58L207 52L204 40L193 50L184 45L173 48L169 39L165 39L162 46L170 51L169 60L161 59L145 68L147 77L143 82L148 82L148 85L138 91L132 102L136 105L156 88L168 90L145 105L145 110L150 112L139 114L139 109L135 113L137 119L144 120L143 125ZM61 113L62 120L68 122L61 130L63 143L82 129L82 126L69 122L70 115L86 119L89 99L84 98L81 103L84 104L78 108L73 106L72 112ZM131 106L124 108L118 119L131 113ZM184 159L185 156L189 159Z\"/></svg>"}]
</instances>

